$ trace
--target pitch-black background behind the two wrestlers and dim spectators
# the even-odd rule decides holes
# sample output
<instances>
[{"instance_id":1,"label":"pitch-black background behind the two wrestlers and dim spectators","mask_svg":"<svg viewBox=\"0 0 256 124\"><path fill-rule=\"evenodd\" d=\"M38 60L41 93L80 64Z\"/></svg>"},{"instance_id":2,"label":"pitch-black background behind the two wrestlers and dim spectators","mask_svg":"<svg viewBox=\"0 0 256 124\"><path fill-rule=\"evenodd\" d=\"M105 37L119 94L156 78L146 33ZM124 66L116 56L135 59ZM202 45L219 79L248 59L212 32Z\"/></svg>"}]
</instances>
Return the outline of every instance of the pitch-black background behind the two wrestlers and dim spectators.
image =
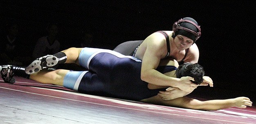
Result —
<instances>
[{"instance_id":1,"label":"pitch-black background behind the two wrestlers and dim spectators","mask_svg":"<svg viewBox=\"0 0 256 124\"><path fill-rule=\"evenodd\" d=\"M61 50L74 47L80 32L93 31L94 47L114 49L129 40L144 40L159 30L171 30L180 18L197 20L202 36L196 42L199 64L214 87L193 94L256 100L255 2L249 0L1 0L1 32L8 22L19 24L26 42L35 44L49 22L59 24Z\"/></svg>"}]
</instances>

